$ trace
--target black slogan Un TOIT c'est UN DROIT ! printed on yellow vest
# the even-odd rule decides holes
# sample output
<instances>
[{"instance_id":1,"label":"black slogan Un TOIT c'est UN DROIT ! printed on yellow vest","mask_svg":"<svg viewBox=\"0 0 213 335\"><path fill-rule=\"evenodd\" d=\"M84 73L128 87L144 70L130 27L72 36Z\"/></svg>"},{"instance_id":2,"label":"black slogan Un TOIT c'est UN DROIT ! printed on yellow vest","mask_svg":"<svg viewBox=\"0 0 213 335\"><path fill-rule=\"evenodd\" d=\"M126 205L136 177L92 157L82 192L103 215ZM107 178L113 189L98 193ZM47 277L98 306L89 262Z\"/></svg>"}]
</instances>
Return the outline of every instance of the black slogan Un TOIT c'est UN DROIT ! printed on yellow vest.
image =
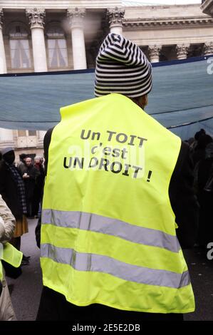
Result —
<instances>
[{"instance_id":1,"label":"black slogan Un TOIT c'est UN DROIT ! printed on yellow vest","mask_svg":"<svg viewBox=\"0 0 213 335\"><path fill-rule=\"evenodd\" d=\"M67 148L63 157L63 168L110 171L134 179L145 178L150 182L152 167L145 172L147 141L147 138L112 130L94 132L83 129L76 145Z\"/></svg>"}]
</instances>

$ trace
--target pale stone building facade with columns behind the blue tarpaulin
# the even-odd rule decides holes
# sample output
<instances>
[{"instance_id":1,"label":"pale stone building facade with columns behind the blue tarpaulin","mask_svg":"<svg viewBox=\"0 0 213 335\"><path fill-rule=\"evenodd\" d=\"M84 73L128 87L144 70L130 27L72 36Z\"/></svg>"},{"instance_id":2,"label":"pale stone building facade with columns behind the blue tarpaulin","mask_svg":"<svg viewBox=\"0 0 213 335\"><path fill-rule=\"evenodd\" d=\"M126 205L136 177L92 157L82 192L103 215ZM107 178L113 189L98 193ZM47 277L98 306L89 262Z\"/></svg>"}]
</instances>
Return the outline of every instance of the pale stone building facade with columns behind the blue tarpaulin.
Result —
<instances>
[{"instance_id":1,"label":"pale stone building facade with columns behind the blue tarpaulin","mask_svg":"<svg viewBox=\"0 0 213 335\"><path fill-rule=\"evenodd\" d=\"M200 7L138 6L134 1L113 0L0 0L0 73L94 68L108 32L137 43L151 62L213 54L211 2L205 0ZM12 145L17 155L42 154L44 133L0 128L0 149Z\"/></svg>"}]
</instances>

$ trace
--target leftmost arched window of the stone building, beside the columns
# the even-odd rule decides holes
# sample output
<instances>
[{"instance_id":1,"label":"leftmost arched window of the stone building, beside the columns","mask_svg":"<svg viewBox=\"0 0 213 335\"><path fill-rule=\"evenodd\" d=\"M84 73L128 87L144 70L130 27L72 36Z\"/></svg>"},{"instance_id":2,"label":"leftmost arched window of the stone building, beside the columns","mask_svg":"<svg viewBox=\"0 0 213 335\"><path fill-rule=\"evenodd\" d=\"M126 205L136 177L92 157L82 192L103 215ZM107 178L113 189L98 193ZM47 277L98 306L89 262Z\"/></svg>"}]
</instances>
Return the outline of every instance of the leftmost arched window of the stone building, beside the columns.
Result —
<instances>
[{"instance_id":1,"label":"leftmost arched window of the stone building, beside the columns","mask_svg":"<svg viewBox=\"0 0 213 335\"><path fill-rule=\"evenodd\" d=\"M9 31L11 51L11 68L31 68L31 56L28 33L23 26L17 24Z\"/></svg>"}]
</instances>

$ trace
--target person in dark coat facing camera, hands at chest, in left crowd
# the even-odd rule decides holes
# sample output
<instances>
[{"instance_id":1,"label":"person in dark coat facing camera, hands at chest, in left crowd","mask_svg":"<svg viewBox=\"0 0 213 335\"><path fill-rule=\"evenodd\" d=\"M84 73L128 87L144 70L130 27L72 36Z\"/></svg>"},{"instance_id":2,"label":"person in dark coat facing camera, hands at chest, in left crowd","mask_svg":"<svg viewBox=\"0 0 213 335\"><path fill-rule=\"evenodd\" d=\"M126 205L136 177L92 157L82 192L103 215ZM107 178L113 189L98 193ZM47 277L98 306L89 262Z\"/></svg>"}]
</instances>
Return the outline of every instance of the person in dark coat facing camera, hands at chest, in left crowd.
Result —
<instances>
[{"instance_id":1,"label":"person in dark coat facing camera, hands at chest, in left crowd","mask_svg":"<svg viewBox=\"0 0 213 335\"><path fill-rule=\"evenodd\" d=\"M30 157L26 158L26 166L21 170L21 175L25 185L27 216L34 217L33 195L36 187L36 180L39 177L40 172L33 166L33 161Z\"/></svg>"}]
</instances>

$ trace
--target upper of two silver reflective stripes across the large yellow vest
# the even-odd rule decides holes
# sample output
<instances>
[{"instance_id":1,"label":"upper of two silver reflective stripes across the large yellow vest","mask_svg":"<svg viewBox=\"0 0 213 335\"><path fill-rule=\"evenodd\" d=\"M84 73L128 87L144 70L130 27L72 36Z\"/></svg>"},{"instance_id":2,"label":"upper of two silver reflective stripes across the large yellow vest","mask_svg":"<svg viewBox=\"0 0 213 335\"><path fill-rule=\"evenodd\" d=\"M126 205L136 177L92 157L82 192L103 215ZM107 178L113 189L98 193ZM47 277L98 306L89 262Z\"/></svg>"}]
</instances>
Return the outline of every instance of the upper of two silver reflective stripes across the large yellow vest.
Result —
<instances>
[{"instance_id":1,"label":"upper of two silver reflective stripes across the large yellow vest","mask_svg":"<svg viewBox=\"0 0 213 335\"><path fill-rule=\"evenodd\" d=\"M130 242L164 248L171 252L179 252L180 250L180 244L176 236L166 234L160 230L130 225L127 222L103 217L102 215L86 212L43 210L41 222L42 224L51 224L58 227L100 232Z\"/></svg>"}]
</instances>

